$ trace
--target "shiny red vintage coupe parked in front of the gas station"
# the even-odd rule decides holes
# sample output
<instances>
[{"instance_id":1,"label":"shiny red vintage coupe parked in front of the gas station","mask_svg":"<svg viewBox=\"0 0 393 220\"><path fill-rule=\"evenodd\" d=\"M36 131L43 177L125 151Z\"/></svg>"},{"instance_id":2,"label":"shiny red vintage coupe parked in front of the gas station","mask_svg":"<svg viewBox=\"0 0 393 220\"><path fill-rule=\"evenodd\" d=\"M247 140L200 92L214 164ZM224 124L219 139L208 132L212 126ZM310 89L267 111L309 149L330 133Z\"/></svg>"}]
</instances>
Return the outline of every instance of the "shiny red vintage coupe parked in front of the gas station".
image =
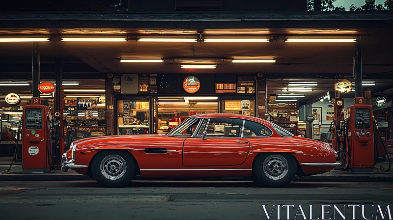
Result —
<instances>
[{"instance_id":1,"label":"shiny red vintage coupe parked in front of the gas station","mask_svg":"<svg viewBox=\"0 0 393 220\"><path fill-rule=\"evenodd\" d=\"M148 178L245 177L283 187L295 175L340 165L327 143L294 137L269 121L239 114L199 114L167 134L106 136L74 141L62 170L94 176L106 187Z\"/></svg>"}]
</instances>

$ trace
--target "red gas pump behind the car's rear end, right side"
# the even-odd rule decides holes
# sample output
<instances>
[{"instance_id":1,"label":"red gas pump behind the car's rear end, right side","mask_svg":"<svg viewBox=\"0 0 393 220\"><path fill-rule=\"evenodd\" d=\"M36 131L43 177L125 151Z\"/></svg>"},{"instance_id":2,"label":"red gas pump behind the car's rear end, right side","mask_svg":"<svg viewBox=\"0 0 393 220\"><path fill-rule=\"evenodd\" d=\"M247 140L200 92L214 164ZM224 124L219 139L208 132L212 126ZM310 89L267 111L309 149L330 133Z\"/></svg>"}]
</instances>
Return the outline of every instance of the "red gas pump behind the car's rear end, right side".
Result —
<instances>
[{"instance_id":1,"label":"red gas pump behind the car's rear end, right side","mask_svg":"<svg viewBox=\"0 0 393 220\"><path fill-rule=\"evenodd\" d=\"M346 138L348 144L346 164L352 171L374 170L374 128L372 107L365 105L365 98L355 98L355 104L347 108Z\"/></svg>"}]
</instances>

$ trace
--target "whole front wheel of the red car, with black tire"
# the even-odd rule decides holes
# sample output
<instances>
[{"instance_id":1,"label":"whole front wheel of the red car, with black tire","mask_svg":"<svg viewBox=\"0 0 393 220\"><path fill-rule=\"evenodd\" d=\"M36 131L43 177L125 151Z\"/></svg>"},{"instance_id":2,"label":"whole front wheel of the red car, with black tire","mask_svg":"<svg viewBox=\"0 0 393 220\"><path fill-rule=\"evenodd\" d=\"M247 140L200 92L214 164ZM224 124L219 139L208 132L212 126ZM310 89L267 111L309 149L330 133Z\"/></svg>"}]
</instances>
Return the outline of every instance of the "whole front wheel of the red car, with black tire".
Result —
<instances>
[{"instance_id":1,"label":"whole front wheel of the red car, with black tire","mask_svg":"<svg viewBox=\"0 0 393 220\"><path fill-rule=\"evenodd\" d=\"M135 160L130 153L125 151L103 150L97 153L91 163L91 172L97 182L104 187L126 187L135 177Z\"/></svg>"}]
</instances>

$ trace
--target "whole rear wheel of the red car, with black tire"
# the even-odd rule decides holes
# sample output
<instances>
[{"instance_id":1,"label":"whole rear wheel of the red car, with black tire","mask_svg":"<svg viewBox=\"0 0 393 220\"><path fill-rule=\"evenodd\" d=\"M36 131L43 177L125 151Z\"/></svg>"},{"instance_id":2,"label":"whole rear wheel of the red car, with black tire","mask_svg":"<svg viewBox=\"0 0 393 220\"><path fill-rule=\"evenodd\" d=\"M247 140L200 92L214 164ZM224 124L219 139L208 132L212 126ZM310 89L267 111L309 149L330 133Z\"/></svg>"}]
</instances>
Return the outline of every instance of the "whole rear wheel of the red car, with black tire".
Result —
<instances>
[{"instance_id":1,"label":"whole rear wheel of the red car, with black tire","mask_svg":"<svg viewBox=\"0 0 393 220\"><path fill-rule=\"evenodd\" d=\"M273 168L274 168L274 161L278 161L276 162L278 163L278 165L280 165L279 161L281 161L281 165L282 163L284 164L286 163L286 166L285 165L282 166L283 169L281 169L280 166L278 166L277 167L278 170L273 170L276 171L277 174L281 173L280 175L276 176L276 179L274 175L275 173L268 171L269 161L273 161L271 163L271 167ZM265 169L263 169L264 165L267 165ZM290 154L282 154L282 153L260 154L255 159L253 169L255 171L257 183L261 184L262 186L285 187L295 177L297 172L297 163L296 163L296 159ZM269 173L271 174L269 175Z\"/></svg>"}]
</instances>

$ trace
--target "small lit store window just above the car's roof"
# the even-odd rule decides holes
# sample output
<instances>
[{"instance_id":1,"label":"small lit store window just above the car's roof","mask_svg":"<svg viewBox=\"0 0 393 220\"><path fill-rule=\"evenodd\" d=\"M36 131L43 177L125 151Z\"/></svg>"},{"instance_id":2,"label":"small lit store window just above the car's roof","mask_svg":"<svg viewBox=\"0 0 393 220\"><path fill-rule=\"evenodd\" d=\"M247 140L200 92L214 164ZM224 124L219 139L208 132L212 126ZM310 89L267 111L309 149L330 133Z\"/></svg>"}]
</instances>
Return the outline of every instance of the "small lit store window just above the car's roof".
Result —
<instances>
[{"instance_id":1,"label":"small lit store window just above the car's roof","mask_svg":"<svg viewBox=\"0 0 393 220\"><path fill-rule=\"evenodd\" d=\"M223 112L254 116L255 100L225 100Z\"/></svg>"}]
</instances>

